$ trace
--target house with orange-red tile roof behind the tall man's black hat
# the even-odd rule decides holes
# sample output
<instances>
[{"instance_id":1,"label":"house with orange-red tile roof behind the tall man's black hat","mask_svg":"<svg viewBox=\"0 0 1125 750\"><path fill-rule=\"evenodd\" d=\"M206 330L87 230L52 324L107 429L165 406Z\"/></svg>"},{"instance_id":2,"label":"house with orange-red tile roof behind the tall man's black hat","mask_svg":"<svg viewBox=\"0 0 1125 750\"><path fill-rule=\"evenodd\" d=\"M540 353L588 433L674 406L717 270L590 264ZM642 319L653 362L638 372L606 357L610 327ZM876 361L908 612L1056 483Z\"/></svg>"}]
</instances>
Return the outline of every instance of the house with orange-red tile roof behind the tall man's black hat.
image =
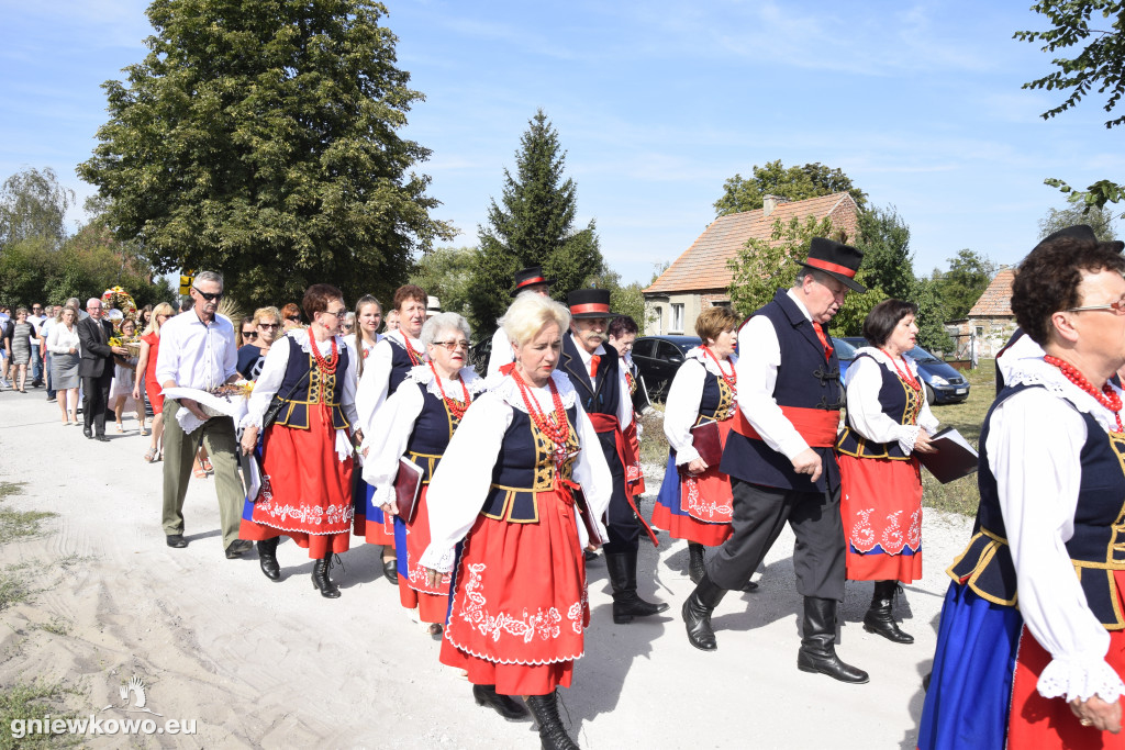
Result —
<instances>
[{"instance_id":1,"label":"house with orange-red tile roof behind the tall man's black hat","mask_svg":"<svg viewBox=\"0 0 1125 750\"><path fill-rule=\"evenodd\" d=\"M860 209L846 192L789 201L766 196L762 208L720 216L675 260L645 293L645 333L695 335L695 318L708 307L730 304L731 270L727 262L749 240L771 240L774 222L794 217L828 218L853 238Z\"/></svg>"}]
</instances>

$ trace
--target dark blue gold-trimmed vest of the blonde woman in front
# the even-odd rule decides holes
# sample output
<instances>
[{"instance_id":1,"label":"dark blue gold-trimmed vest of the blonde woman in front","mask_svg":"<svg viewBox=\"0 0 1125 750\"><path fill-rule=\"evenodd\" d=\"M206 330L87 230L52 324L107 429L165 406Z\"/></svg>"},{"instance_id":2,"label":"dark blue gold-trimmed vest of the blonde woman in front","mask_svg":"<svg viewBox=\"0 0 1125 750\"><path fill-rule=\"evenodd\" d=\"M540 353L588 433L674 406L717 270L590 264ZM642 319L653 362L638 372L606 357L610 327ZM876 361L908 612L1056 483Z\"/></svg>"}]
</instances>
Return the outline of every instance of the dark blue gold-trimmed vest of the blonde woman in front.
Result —
<instances>
[{"instance_id":1,"label":"dark blue gold-trimmed vest of the blonde woman in front","mask_svg":"<svg viewBox=\"0 0 1125 750\"><path fill-rule=\"evenodd\" d=\"M570 423L567 453L576 454L575 407L567 409L566 416ZM536 494L555 488L556 467L551 445L551 441L539 433L531 417L520 409L512 409L512 424L504 433L493 469L492 488L480 513L511 523L538 523ZM573 468L574 457L562 464L564 479L570 479Z\"/></svg>"}]
</instances>

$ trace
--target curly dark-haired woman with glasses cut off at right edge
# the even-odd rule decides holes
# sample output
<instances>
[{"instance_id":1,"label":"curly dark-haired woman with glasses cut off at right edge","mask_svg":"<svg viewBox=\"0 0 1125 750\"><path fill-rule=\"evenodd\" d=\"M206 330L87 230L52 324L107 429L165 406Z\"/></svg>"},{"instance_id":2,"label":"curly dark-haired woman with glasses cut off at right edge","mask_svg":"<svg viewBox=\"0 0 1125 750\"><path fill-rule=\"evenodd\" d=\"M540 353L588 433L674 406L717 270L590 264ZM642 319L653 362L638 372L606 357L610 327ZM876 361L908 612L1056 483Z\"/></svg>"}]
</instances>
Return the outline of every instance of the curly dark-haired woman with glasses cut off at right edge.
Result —
<instances>
[{"instance_id":1,"label":"curly dark-haired woman with glasses cut off at right edge","mask_svg":"<svg viewBox=\"0 0 1125 750\"><path fill-rule=\"evenodd\" d=\"M1125 259L1068 227L1020 263L1014 363L980 434L974 533L950 568L918 747L1122 747Z\"/></svg>"}]
</instances>

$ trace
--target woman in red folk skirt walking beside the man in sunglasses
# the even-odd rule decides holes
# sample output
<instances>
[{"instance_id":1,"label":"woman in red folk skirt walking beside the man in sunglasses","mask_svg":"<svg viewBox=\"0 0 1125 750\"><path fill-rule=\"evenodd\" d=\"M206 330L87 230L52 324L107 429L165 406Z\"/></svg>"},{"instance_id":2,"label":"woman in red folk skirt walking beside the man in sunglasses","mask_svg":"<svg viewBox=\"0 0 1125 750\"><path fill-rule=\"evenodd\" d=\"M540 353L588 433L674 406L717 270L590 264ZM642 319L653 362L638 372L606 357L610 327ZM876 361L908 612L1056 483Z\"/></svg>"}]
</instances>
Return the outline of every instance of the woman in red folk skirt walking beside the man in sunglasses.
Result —
<instances>
[{"instance_id":1,"label":"woman in red folk skirt walking beside the man in sunglasses","mask_svg":"<svg viewBox=\"0 0 1125 750\"><path fill-rule=\"evenodd\" d=\"M312 325L270 346L242 422L242 451L250 454L270 400L281 399L262 439L262 486L246 500L238 536L258 542L262 572L273 581L281 579L279 537L292 537L316 560L313 585L334 599L340 589L328 569L334 553L348 551L353 515L348 431L356 424L354 363L338 335L348 311L340 290L313 284L303 307Z\"/></svg>"}]
</instances>

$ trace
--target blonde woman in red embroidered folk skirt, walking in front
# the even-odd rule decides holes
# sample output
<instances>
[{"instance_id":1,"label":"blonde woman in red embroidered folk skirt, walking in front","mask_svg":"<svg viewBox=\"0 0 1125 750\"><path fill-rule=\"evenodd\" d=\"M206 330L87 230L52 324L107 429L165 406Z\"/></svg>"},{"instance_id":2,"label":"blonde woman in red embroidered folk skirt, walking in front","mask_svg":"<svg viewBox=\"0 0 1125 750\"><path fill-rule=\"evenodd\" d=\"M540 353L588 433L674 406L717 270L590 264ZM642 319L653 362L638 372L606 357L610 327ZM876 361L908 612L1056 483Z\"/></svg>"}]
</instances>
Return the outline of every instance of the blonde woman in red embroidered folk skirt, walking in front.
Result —
<instances>
[{"instance_id":1,"label":"blonde woman in red embroidered folk skirt, walking in front","mask_svg":"<svg viewBox=\"0 0 1125 750\"><path fill-rule=\"evenodd\" d=\"M590 418L555 372L569 324L549 297L508 308L515 367L488 381L442 457L421 559L431 581L454 570L442 663L466 670L477 703L505 717L522 712L510 696L525 696L544 748L577 747L556 687L569 687L584 652L587 523L604 539L612 485Z\"/></svg>"}]
</instances>

